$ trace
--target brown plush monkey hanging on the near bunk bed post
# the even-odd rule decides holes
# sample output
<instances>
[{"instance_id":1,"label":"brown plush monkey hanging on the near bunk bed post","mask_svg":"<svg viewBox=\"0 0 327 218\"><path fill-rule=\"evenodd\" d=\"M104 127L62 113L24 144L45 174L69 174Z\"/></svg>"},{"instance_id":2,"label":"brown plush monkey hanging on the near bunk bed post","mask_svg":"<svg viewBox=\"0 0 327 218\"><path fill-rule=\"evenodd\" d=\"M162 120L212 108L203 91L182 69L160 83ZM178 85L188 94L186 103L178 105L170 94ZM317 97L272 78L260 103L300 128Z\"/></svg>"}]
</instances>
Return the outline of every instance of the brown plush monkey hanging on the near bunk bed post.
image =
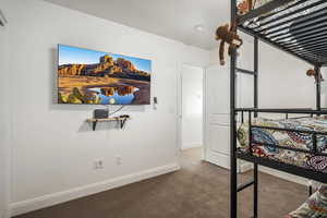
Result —
<instances>
[{"instance_id":1,"label":"brown plush monkey hanging on the near bunk bed post","mask_svg":"<svg viewBox=\"0 0 327 218\"><path fill-rule=\"evenodd\" d=\"M220 64L225 65L225 44L229 44L228 53L231 55L233 50L237 50L243 45L243 40L237 34L235 24L229 27L229 24L219 26L216 31L216 40L221 40L219 48Z\"/></svg>"}]
</instances>

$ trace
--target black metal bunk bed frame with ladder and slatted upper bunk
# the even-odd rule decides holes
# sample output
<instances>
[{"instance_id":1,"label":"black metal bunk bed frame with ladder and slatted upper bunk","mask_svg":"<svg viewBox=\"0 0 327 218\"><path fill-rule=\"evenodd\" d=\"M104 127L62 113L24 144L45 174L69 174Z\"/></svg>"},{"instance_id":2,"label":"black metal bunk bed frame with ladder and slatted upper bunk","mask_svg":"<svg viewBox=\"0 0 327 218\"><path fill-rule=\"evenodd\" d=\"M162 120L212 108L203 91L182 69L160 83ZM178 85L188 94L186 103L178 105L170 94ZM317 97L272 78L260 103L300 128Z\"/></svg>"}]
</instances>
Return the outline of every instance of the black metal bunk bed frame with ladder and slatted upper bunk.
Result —
<instances>
[{"instance_id":1,"label":"black metal bunk bed frame with ladder and slatted upper bunk","mask_svg":"<svg viewBox=\"0 0 327 218\"><path fill-rule=\"evenodd\" d=\"M278 162L276 160L257 157L253 154L252 146L252 118L257 118L258 113L280 113L286 114L308 114L322 116L327 111L320 107L320 69L327 65L327 1L324 0L271 0L268 3L251 10L245 15L239 15L237 11L237 0L231 0L231 23L237 24L237 29L254 37L254 70L239 69L237 66L237 51L231 52L230 61L230 125L231 125L231 149L230 149L230 217L238 217L238 192L253 185L253 217L258 217L258 165L300 175L310 180L327 183L327 173L318 172L293 165ZM282 8L281 8L282 7ZM317 72L316 82L316 109L259 109L258 108L258 40L267 43L283 52L312 64ZM237 108L235 105L235 83L237 73L252 74L254 78L254 107ZM241 152L237 145L237 117L249 113L249 146L250 153ZM295 129L283 129L282 131L301 132ZM315 131L312 134L313 149L296 149L295 152L322 155L316 149L317 141ZM257 142L256 142L257 143ZM275 146L280 149L290 147ZM253 162L253 180L238 184L237 165L238 159Z\"/></svg>"}]
</instances>

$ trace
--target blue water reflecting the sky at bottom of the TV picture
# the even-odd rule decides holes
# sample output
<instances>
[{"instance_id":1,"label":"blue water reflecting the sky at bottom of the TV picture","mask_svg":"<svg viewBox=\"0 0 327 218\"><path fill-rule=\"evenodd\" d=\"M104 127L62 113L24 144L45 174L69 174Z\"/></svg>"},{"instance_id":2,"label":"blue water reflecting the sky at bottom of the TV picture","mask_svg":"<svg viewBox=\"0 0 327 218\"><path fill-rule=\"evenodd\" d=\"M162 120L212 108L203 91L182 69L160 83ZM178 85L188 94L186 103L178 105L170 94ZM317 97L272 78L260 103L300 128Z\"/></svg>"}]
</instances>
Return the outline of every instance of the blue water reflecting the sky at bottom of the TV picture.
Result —
<instances>
[{"instance_id":1,"label":"blue water reflecting the sky at bottom of the TV picture","mask_svg":"<svg viewBox=\"0 0 327 218\"><path fill-rule=\"evenodd\" d=\"M88 90L95 92L100 98L100 105L130 105L135 98L134 93L140 88L134 88L132 94L120 96L116 90L112 96L105 96L101 94L100 88L88 88Z\"/></svg>"}]
</instances>

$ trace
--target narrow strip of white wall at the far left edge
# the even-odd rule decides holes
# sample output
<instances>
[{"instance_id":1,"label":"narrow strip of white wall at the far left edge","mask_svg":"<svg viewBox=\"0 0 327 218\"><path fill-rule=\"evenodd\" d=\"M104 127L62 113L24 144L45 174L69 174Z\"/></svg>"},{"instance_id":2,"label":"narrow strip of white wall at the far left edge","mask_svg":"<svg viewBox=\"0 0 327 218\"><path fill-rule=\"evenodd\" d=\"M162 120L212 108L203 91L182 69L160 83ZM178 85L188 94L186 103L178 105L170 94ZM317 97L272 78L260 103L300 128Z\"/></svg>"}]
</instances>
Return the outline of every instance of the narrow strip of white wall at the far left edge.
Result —
<instances>
[{"instance_id":1,"label":"narrow strip of white wall at the far left edge","mask_svg":"<svg viewBox=\"0 0 327 218\"><path fill-rule=\"evenodd\" d=\"M10 195L10 94L9 81L5 76L9 70L9 48L8 26L0 26L0 218L4 218L9 206Z\"/></svg>"}]
</instances>

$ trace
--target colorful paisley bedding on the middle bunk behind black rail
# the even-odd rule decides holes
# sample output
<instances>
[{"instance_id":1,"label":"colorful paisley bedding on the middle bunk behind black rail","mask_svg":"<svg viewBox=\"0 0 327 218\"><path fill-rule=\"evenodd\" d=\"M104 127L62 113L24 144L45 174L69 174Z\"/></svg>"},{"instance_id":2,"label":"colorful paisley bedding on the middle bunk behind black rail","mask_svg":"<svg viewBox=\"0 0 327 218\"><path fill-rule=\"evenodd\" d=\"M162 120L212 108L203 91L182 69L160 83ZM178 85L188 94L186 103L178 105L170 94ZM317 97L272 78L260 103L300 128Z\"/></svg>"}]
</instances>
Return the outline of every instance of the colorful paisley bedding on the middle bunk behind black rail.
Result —
<instances>
[{"instance_id":1,"label":"colorful paisley bedding on the middle bunk behind black rail","mask_svg":"<svg viewBox=\"0 0 327 218\"><path fill-rule=\"evenodd\" d=\"M295 130L314 130L327 133L327 120L323 118L302 118L288 120L270 120L257 118L252 121L253 125L272 126ZM290 164L315 171L327 172L327 156L314 156L307 153L287 150L276 147L263 146L259 143L276 144L305 150L313 149L313 136L308 133L295 133L267 129L252 129L252 140L258 142L252 146L252 152L257 157L265 157L276 161ZM249 123L243 123L238 130L238 138L242 152L250 152ZM317 134L317 150L327 154L327 134Z\"/></svg>"}]
</instances>

